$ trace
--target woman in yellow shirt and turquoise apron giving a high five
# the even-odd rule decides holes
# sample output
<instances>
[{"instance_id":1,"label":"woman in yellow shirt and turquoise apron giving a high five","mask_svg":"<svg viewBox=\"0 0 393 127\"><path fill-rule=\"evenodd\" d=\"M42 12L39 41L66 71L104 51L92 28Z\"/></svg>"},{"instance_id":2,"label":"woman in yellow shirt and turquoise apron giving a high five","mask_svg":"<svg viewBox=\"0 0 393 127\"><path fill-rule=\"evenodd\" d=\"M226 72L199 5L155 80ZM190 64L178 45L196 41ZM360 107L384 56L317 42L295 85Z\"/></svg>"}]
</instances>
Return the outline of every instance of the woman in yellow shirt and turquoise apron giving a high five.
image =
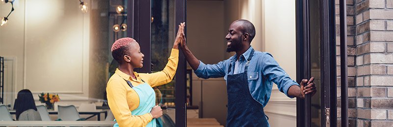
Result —
<instances>
[{"instance_id":1,"label":"woman in yellow shirt and turquoise apron giving a high five","mask_svg":"<svg viewBox=\"0 0 393 127\"><path fill-rule=\"evenodd\" d=\"M108 105L117 123L114 127L156 127L155 118L163 115L160 106L155 106L152 87L172 81L176 73L179 50L185 23L179 25L173 48L164 70L151 74L134 72L143 66L144 55L132 38L122 38L112 45L112 56L119 67L107 84Z\"/></svg>"}]
</instances>

